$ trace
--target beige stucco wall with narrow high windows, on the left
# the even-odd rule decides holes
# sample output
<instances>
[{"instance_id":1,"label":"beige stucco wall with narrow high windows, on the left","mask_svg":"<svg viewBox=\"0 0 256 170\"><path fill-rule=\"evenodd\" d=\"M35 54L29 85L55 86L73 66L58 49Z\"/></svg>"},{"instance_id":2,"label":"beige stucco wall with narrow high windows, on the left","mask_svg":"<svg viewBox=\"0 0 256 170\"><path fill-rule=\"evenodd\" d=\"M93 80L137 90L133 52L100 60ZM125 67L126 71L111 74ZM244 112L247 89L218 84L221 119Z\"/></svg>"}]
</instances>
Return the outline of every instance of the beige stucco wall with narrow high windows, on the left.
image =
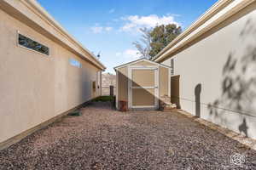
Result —
<instances>
[{"instance_id":1,"label":"beige stucco wall with narrow high windows, on the left","mask_svg":"<svg viewBox=\"0 0 256 170\"><path fill-rule=\"evenodd\" d=\"M50 55L18 47L17 31L47 45ZM98 68L1 9L0 33L0 142L100 94L92 91Z\"/></svg>"}]
</instances>

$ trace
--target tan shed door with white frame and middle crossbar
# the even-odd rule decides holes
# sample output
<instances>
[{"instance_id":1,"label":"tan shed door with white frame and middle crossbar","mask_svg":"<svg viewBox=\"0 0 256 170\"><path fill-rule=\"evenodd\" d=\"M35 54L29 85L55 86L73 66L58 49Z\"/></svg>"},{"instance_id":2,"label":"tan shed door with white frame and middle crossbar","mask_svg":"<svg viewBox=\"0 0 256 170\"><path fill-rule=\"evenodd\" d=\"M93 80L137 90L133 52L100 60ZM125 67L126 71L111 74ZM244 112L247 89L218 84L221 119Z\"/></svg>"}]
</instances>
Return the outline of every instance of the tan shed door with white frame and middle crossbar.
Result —
<instances>
[{"instance_id":1,"label":"tan shed door with white frame and middle crossbar","mask_svg":"<svg viewBox=\"0 0 256 170\"><path fill-rule=\"evenodd\" d=\"M158 107L158 67L131 67L129 69L129 107Z\"/></svg>"}]
</instances>

